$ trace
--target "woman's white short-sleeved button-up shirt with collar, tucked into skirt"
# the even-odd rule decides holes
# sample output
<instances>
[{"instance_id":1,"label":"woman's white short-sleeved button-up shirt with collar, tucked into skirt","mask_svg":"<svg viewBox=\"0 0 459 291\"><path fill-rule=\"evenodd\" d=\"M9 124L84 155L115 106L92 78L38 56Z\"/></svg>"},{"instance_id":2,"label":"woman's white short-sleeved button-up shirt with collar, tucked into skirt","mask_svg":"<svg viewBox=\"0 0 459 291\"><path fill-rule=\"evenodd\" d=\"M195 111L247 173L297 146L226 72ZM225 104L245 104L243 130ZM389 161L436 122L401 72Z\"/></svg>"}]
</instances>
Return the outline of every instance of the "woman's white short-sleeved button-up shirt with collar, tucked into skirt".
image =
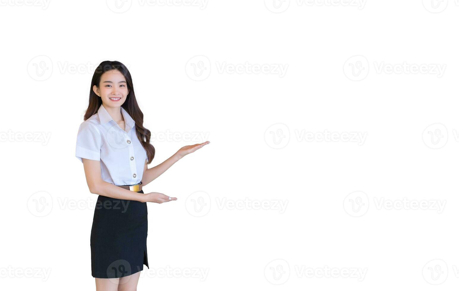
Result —
<instances>
[{"instance_id":1,"label":"woman's white short-sleeved button-up shirt with collar, tucked into skirt","mask_svg":"<svg viewBox=\"0 0 459 291\"><path fill-rule=\"evenodd\" d=\"M121 107L125 130L121 129L103 105L97 114L78 129L76 157L101 161L101 178L117 186L142 181L146 151L137 137L134 120Z\"/></svg>"}]
</instances>

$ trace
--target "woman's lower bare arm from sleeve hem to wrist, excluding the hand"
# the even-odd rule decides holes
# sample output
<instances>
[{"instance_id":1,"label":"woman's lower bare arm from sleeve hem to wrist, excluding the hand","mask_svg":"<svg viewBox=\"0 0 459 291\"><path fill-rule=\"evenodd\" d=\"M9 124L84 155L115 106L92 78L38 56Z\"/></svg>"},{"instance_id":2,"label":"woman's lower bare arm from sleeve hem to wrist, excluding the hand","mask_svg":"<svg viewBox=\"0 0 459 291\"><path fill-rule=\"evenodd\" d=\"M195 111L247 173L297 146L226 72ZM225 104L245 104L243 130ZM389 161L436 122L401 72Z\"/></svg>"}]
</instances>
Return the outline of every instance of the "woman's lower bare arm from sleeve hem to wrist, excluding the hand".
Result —
<instances>
[{"instance_id":1,"label":"woman's lower bare arm from sleeve hem to wrist, excluding the hand","mask_svg":"<svg viewBox=\"0 0 459 291\"><path fill-rule=\"evenodd\" d=\"M146 202L146 195L130 191L111 183L103 181L101 178L101 162L92 159L82 159L84 166L84 175L89 187L89 191L93 194L99 194L106 197L126 200L136 200ZM143 186L143 185L142 185Z\"/></svg>"}]
</instances>

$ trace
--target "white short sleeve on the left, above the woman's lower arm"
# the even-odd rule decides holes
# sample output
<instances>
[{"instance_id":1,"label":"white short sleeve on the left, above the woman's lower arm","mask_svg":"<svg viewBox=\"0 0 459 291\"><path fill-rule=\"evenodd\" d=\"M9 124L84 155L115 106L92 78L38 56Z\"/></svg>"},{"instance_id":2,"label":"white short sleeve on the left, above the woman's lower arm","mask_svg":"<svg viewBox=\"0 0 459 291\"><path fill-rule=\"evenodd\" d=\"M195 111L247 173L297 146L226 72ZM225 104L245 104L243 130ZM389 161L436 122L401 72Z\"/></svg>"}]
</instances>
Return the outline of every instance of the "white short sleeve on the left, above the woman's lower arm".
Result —
<instances>
[{"instance_id":1,"label":"white short sleeve on the left, above the woman's lower arm","mask_svg":"<svg viewBox=\"0 0 459 291\"><path fill-rule=\"evenodd\" d=\"M84 159L101 160L101 134L89 122L83 122L78 129L77 148L75 156L83 162Z\"/></svg>"}]
</instances>

